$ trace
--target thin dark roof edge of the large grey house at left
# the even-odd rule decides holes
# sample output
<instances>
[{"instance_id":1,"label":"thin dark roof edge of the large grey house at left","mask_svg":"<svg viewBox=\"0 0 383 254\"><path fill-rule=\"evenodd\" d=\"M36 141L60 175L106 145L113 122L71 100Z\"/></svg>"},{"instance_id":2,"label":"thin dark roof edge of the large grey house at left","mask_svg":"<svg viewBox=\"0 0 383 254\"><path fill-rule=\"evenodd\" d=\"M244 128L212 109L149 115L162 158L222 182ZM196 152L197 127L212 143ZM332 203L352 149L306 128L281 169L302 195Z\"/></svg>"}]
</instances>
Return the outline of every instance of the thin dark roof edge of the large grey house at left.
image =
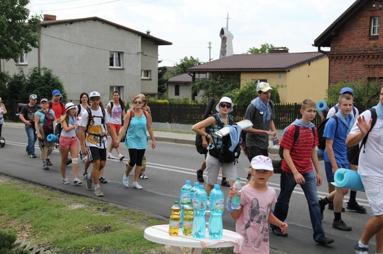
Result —
<instances>
[{"instance_id":1,"label":"thin dark roof edge of the large grey house at left","mask_svg":"<svg viewBox=\"0 0 383 254\"><path fill-rule=\"evenodd\" d=\"M98 20L98 21L101 21L101 22L104 22L104 23L108 23L110 25L114 25L114 26L116 26L119 29L123 29L123 30L129 31L129 32L138 34L142 38L145 38L147 40L151 40L151 41L153 41L157 45L172 45L173 44L173 43L171 43L169 41L165 41L165 40L156 38L156 37L148 35L146 33L138 32L136 30L130 29L129 27L126 27L126 26L123 26L123 25L119 25L119 24L110 22L109 20L106 20L106 19L103 19L103 18L99 18L99 17L61 19L61 20L43 20L43 21L40 22L40 26L54 25L54 24L61 24L61 23L79 22L79 21L85 21L85 20L93 20L93 21L97 21Z\"/></svg>"}]
</instances>

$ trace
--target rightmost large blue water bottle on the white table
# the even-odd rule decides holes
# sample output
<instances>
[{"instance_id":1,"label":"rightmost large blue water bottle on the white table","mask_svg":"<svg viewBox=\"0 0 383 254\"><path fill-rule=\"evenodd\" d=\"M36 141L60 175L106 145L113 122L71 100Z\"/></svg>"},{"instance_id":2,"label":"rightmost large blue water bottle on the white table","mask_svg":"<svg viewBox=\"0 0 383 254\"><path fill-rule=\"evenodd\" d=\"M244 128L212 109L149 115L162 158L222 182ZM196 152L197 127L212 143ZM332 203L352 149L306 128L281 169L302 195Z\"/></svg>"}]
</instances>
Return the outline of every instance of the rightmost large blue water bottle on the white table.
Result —
<instances>
[{"instance_id":1,"label":"rightmost large blue water bottle on the white table","mask_svg":"<svg viewBox=\"0 0 383 254\"><path fill-rule=\"evenodd\" d=\"M224 200L225 195L221 191L220 185L214 184L214 189L210 191L209 237L211 239L222 238L222 213L224 210Z\"/></svg>"}]
</instances>

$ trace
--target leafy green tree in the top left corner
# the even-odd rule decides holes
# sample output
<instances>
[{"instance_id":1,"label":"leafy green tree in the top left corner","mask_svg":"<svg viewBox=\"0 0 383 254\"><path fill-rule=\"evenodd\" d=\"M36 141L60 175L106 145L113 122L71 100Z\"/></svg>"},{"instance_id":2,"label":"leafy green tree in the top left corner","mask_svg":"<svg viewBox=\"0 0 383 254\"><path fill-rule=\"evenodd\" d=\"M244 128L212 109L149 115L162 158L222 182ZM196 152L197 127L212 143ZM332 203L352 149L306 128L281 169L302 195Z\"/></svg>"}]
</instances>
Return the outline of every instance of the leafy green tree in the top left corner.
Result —
<instances>
[{"instance_id":1,"label":"leafy green tree in the top left corner","mask_svg":"<svg viewBox=\"0 0 383 254\"><path fill-rule=\"evenodd\" d=\"M38 47L40 16L28 19L29 0L2 0L0 4L0 59L18 61L21 52ZM28 19L28 24L26 24Z\"/></svg>"}]
</instances>

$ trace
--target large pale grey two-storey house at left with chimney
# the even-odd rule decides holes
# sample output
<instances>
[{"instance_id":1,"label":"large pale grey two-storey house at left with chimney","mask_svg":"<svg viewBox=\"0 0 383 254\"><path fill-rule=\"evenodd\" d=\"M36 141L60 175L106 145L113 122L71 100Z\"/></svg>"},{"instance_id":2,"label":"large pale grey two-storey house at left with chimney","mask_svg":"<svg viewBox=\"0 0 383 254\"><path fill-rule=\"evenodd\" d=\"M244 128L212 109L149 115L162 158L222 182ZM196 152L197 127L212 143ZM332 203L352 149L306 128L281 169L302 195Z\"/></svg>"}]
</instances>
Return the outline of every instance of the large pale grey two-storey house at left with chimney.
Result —
<instances>
[{"instance_id":1,"label":"large pale grey two-storey house at left with chimney","mask_svg":"<svg viewBox=\"0 0 383 254\"><path fill-rule=\"evenodd\" d=\"M124 101L139 93L156 95L158 46L172 45L99 17L56 20L54 15L44 15L40 22L39 44L18 63L0 60L0 71L46 67L63 81L65 99L98 91L104 103L114 90Z\"/></svg>"}]
</instances>

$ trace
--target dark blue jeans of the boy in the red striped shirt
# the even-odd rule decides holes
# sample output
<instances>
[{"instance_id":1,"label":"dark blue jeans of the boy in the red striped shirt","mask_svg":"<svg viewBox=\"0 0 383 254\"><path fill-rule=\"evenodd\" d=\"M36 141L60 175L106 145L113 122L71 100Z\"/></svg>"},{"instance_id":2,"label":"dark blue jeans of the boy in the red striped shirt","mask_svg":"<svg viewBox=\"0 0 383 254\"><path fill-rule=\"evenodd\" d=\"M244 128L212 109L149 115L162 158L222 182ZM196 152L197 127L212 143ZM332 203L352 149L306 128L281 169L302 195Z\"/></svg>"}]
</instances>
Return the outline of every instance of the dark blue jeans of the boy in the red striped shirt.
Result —
<instances>
[{"instance_id":1,"label":"dark blue jeans of the boy in the red striped shirt","mask_svg":"<svg viewBox=\"0 0 383 254\"><path fill-rule=\"evenodd\" d=\"M324 230L322 228L321 208L318 201L317 178L313 171L304 173L302 176L306 183L301 184L301 188L306 196L308 204L308 211L310 213L310 220L314 231L313 238L314 241L318 241L324 236ZM275 217L281 221L284 221L288 215L290 197L296 185L297 183L295 182L294 175L282 171L280 175L280 193L274 208ZM271 224L271 227L276 226Z\"/></svg>"}]
</instances>

